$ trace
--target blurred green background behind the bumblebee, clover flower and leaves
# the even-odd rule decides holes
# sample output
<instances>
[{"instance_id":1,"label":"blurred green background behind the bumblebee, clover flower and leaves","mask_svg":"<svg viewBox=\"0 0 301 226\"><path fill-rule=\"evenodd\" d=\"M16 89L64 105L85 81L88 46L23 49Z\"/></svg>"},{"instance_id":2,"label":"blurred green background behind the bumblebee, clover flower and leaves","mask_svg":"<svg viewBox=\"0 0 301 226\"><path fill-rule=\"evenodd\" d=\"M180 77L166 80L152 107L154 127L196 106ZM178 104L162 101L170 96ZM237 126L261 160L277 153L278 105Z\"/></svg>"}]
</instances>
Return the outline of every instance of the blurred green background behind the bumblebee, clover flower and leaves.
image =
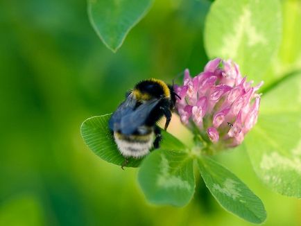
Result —
<instances>
[{"instance_id":1,"label":"blurred green background behind the bumblebee, clover flower and leaves","mask_svg":"<svg viewBox=\"0 0 301 226\"><path fill-rule=\"evenodd\" d=\"M85 0L1 1L0 225L250 225L224 211L200 177L187 207L149 205L137 169L104 162L80 137L80 123L114 111L135 82L203 69L210 3L155 1L114 54L89 24ZM285 72L300 67L289 48L300 44L301 4L282 6L277 71ZM170 132L189 142L179 126L174 117ZM301 225L301 200L262 186L243 148L218 158L263 200L265 225Z\"/></svg>"}]
</instances>

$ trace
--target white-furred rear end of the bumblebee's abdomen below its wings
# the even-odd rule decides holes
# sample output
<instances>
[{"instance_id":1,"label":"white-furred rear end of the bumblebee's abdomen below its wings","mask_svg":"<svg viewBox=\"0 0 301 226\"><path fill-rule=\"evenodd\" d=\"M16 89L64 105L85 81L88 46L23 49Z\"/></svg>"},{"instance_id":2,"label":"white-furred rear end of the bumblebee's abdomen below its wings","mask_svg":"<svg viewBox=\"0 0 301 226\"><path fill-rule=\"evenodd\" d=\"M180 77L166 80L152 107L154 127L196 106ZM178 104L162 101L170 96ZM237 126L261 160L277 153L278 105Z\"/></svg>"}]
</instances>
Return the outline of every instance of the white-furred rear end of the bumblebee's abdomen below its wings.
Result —
<instances>
[{"instance_id":1,"label":"white-furred rear end of the bumblebee's abdomen below its wings","mask_svg":"<svg viewBox=\"0 0 301 226\"><path fill-rule=\"evenodd\" d=\"M130 136L114 132L115 142L124 157L140 158L147 155L153 148L154 137L153 131L145 135L132 134Z\"/></svg>"}]
</instances>

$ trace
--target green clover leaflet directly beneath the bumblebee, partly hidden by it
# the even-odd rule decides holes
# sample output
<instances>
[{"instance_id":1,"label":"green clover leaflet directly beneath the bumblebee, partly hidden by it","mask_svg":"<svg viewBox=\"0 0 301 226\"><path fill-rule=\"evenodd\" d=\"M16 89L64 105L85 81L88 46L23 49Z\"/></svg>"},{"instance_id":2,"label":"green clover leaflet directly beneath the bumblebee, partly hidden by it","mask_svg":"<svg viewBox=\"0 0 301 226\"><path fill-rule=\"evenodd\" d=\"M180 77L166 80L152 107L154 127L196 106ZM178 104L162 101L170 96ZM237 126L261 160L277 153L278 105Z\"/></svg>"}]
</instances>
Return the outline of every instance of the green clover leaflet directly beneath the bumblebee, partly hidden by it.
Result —
<instances>
[{"instance_id":1,"label":"green clover leaflet directly beneath the bumblebee, partly hidden by it","mask_svg":"<svg viewBox=\"0 0 301 226\"><path fill-rule=\"evenodd\" d=\"M87 146L99 157L107 162L122 166L124 157L115 144L112 132L108 128L111 114L93 116L83 122L80 132ZM162 148L169 150L184 150L185 146L168 132L162 131ZM128 167L139 166L142 159L130 158Z\"/></svg>"}]
</instances>

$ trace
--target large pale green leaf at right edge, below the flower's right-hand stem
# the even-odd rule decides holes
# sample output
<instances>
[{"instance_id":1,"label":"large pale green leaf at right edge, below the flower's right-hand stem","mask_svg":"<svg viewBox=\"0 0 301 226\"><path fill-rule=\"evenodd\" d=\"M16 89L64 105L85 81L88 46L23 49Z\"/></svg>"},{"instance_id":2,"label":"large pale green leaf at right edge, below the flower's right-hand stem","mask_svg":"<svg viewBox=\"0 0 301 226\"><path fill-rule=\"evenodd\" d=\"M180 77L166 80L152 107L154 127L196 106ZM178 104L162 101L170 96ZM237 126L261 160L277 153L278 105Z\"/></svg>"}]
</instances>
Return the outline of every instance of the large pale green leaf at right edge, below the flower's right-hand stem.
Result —
<instances>
[{"instance_id":1,"label":"large pale green leaf at right edge, below the flower's right-hand stem","mask_svg":"<svg viewBox=\"0 0 301 226\"><path fill-rule=\"evenodd\" d=\"M301 198L301 74L286 78L262 97L257 125L245 144L264 184Z\"/></svg>"}]
</instances>

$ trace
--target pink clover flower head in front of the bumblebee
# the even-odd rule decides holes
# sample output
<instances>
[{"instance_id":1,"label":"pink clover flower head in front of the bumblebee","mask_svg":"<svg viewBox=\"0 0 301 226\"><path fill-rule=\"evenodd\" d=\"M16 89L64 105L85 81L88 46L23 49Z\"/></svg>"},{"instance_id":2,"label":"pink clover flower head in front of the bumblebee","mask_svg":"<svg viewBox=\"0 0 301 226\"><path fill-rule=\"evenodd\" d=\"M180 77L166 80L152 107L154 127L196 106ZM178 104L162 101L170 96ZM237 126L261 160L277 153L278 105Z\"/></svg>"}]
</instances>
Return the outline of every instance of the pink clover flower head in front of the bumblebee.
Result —
<instances>
[{"instance_id":1,"label":"pink clover flower head in front of the bumblebee","mask_svg":"<svg viewBox=\"0 0 301 226\"><path fill-rule=\"evenodd\" d=\"M235 147L257 122L257 90L263 82L254 87L252 83L241 76L232 60L216 58L196 77L191 78L188 69L184 71L184 84L174 87L180 96L175 107L182 123L198 128L212 144Z\"/></svg>"}]
</instances>

